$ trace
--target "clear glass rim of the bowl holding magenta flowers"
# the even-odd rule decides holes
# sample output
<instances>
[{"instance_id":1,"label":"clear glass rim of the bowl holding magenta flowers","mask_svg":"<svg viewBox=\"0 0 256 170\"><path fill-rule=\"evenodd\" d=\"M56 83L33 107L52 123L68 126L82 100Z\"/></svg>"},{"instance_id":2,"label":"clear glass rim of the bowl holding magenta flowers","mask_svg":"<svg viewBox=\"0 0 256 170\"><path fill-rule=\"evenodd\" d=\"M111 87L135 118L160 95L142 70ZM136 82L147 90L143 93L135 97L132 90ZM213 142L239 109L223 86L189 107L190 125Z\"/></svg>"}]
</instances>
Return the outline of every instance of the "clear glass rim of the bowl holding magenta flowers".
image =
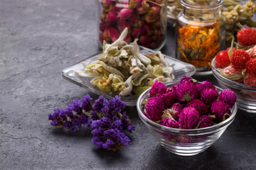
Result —
<instances>
[{"instance_id":1,"label":"clear glass rim of the bowl holding magenta flowers","mask_svg":"<svg viewBox=\"0 0 256 170\"><path fill-rule=\"evenodd\" d=\"M174 84L177 84L177 83L178 83L178 81L172 81L172 82L166 83L166 86L174 85ZM217 87L217 89L219 89L221 91L223 90L218 86L216 86L216 87ZM155 123L154 121L150 120L149 118L146 118L146 115L144 115L144 113L142 111L142 102L143 102L142 98L144 98L144 96L146 96L146 94L149 92L150 89L144 91L143 94L141 94L141 96L139 96L139 98L138 98L137 111L139 113L139 118L141 118L144 123L146 123L147 125L150 125L152 128L157 128L159 130L164 130L166 132L189 133L189 134L198 134L198 133L204 133L204 132L211 132L211 131L217 130L219 128L222 128L225 125L228 125L228 124L232 123L232 121L235 119L235 115L238 111L237 103L235 103L235 105L231 108L231 113L232 114L230 115L230 117L228 119L224 120L221 123L218 123L216 125L212 125L212 126L207 127L207 128L188 129L188 130L187 129L169 128L169 127L166 127L164 125L160 125L158 123Z\"/></svg>"}]
</instances>

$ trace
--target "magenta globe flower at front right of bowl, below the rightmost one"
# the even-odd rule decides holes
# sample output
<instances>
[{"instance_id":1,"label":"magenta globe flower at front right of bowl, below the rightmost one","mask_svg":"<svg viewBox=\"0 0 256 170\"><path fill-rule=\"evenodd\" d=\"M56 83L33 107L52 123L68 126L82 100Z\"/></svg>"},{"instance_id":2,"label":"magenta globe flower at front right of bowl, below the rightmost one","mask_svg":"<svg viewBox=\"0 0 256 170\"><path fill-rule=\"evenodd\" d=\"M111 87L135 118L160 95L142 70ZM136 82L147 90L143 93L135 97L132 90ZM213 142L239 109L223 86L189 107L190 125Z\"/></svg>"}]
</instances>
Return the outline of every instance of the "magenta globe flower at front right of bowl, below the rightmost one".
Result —
<instances>
[{"instance_id":1,"label":"magenta globe flower at front right of bowl, below the rightmost one","mask_svg":"<svg viewBox=\"0 0 256 170\"><path fill-rule=\"evenodd\" d=\"M213 101L212 106L210 106L211 115L216 116L218 123L223 121L223 116L225 113L230 114L230 106L224 101Z\"/></svg>"}]
</instances>

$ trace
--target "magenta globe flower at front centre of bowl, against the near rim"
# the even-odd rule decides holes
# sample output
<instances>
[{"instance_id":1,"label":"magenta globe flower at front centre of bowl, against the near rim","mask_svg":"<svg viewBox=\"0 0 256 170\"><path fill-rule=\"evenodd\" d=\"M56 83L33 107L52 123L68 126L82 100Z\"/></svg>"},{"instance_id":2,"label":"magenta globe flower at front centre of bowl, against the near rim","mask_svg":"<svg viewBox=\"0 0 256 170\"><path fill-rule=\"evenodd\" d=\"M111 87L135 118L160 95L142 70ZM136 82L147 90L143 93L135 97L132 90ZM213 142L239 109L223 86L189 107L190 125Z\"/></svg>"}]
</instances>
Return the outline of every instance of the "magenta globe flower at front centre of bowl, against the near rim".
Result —
<instances>
[{"instance_id":1,"label":"magenta globe flower at front centre of bowl, against the near rim","mask_svg":"<svg viewBox=\"0 0 256 170\"><path fill-rule=\"evenodd\" d=\"M181 129L193 129L198 125L199 112L196 108L186 107L181 111L178 125Z\"/></svg>"}]
</instances>

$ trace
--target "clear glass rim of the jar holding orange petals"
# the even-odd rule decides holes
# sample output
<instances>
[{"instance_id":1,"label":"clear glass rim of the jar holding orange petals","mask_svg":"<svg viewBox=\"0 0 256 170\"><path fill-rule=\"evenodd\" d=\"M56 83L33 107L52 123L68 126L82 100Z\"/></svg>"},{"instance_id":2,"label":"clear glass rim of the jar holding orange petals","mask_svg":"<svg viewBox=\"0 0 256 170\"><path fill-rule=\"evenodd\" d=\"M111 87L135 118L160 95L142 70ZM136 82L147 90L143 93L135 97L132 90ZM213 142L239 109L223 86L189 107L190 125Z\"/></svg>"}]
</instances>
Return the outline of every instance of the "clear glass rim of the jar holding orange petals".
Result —
<instances>
[{"instance_id":1,"label":"clear glass rim of the jar holding orange petals","mask_svg":"<svg viewBox=\"0 0 256 170\"><path fill-rule=\"evenodd\" d=\"M193 8L193 9L200 9L200 10L209 10L209 9L215 9L222 6L224 3L224 0L218 0L215 4L207 5L207 6L199 6L199 5L193 5L186 2L186 0L181 0L181 5L185 6L186 8Z\"/></svg>"}]
</instances>

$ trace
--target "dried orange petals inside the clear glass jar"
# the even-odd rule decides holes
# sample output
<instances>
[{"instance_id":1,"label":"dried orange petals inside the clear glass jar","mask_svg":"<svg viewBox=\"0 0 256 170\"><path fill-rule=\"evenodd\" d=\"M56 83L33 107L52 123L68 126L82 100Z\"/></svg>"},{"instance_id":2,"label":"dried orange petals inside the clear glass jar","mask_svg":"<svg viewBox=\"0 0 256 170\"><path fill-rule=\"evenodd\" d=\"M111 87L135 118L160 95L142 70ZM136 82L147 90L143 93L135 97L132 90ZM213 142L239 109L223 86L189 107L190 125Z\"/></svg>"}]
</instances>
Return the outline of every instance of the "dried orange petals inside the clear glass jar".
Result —
<instances>
[{"instance_id":1,"label":"dried orange petals inside the clear glass jar","mask_svg":"<svg viewBox=\"0 0 256 170\"><path fill-rule=\"evenodd\" d=\"M193 25L195 24L195 25ZM220 26L195 22L178 29L179 59L195 67L208 66L220 47Z\"/></svg>"}]
</instances>

